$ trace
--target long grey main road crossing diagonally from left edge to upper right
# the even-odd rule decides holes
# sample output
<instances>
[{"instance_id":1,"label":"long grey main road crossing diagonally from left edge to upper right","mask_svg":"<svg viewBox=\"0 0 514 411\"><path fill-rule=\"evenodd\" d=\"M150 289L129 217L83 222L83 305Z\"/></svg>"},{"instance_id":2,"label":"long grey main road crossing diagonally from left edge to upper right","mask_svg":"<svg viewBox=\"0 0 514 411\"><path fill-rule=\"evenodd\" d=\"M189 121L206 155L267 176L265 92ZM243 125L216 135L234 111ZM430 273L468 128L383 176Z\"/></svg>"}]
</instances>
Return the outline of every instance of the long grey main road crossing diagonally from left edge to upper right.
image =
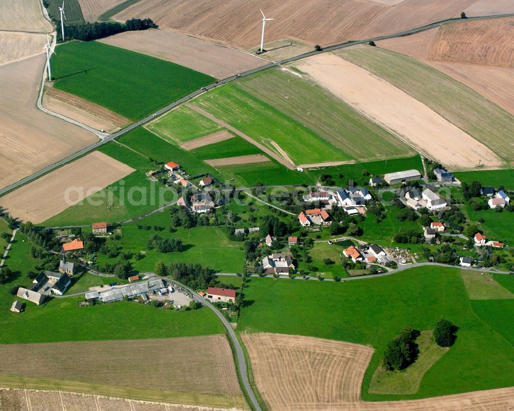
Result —
<instances>
[{"instance_id":1,"label":"long grey main road crossing diagonally from left edge to upper right","mask_svg":"<svg viewBox=\"0 0 514 411\"><path fill-rule=\"evenodd\" d=\"M473 21L473 20L497 19L499 17L511 17L511 16L514 16L514 13L496 14L496 15L490 15L490 16L469 17L467 20L468 21ZM86 147L86 148L78 151L77 153L70 155L69 157L66 157L66 158L62 159L62 160L60 160L59 162L57 162L55 164L47 166L44 169L42 169L40 171L37 171L34 174L31 174L31 175L23 178L22 180L20 180L17 183L13 183L13 184L11 184L11 185L9 185L7 187L4 187L4 188L0 189L0 196L6 194L7 192L9 192L9 191L11 191L13 189L18 188L18 187L20 187L20 186L22 186L24 184L27 184L27 183L31 182L32 180L36 180L36 178L41 177L42 175L48 173L49 171L52 171L52 170L54 170L54 169L56 169L58 167L61 167L61 166L65 165L65 164L75 160L76 158L78 158L78 157L80 157L80 156L82 156L84 154L89 153L90 151L96 150L98 147L106 144L107 142L109 142L109 141L111 141L111 140L113 140L113 139L115 139L115 138L117 138L117 137L119 137L119 136L121 136L121 135L123 135L125 133L128 133L131 130L134 130L135 128L141 126L142 124L145 124L145 123L151 121L155 117L160 116L161 114L164 114L164 113L174 109L176 106L178 106L178 105L180 105L182 103L185 103L186 101L191 100L192 98L198 96L199 94L202 94L202 93L204 93L206 91L209 91L212 88L217 87L220 84L225 84L225 83L234 81L234 80L236 80L236 79L238 79L240 77L249 76L251 74L261 72L262 70L266 70L266 69L268 69L270 67L276 67L276 66L279 66L281 64L290 63L290 62L293 62L293 61L304 59L306 57L315 56L315 55L317 55L319 53L323 53L323 52L327 52L327 51L332 51L332 50L336 50L336 49L344 48L344 47L350 47L350 46L354 46L354 45L357 45L357 44L365 44L365 43L368 43L370 41L379 41L379 40L391 39L391 38L395 38L395 37L403 37L403 36L406 36L406 35L419 33L421 31L430 30L432 28L443 26L445 24L453 23L453 22L459 21L459 20L461 20L461 19L447 19L447 20L443 20L443 21L440 21L440 22L431 23L431 24L428 24L426 26L421 26L421 27L417 27L417 28L414 28L414 29L410 29L410 30L400 31L400 32L394 33L394 34L381 35L381 36L378 36L378 37L373 37L371 39L349 41L349 42L346 42L346 43L335 44L333 46L325 47L321 51L310 51L310 52L303 53L301 55L298 55L298 56L295 56L295 57L291 57L291 58L288 58L288 59L285 59L285 60L281 60L281 61L277 61L277 62L271 62L271 63L266 64L264 66L254 68L252 70L248 70L247 72L243 72L243 73L237 74L235 76L227 77L226 79L223 79L223 80L220 80L220 81L216 81L215 83L212 83L212 84L210 84L208 86L202 87L202 88L200 88L200 90L196 90L193 93L188 94L185 97L182 97L180 100L177 100L177 101L167 105L166 107L158 110L154 114L152 114L152 115L150 115L150 116L148 116L146 118L143 118L143 119L141 119L141 120L131 124L131 126L128 126L127 128L125 128L123 130L120 130L117 133L114 133L114 134L106 136L101 141L99 141L99 142L97 142L97 143L95 143L95 144L93 144L93 145L91 145L89 147ZM45 65L45 70L46 70L46 65ZM55 114L57 114L57 113L53 113L52 115L55 115ZM66 119L66 121L68 121L68 120ZM75 122L75 123L77 124L77 122Z\"/></svg>"}]
</instances>

